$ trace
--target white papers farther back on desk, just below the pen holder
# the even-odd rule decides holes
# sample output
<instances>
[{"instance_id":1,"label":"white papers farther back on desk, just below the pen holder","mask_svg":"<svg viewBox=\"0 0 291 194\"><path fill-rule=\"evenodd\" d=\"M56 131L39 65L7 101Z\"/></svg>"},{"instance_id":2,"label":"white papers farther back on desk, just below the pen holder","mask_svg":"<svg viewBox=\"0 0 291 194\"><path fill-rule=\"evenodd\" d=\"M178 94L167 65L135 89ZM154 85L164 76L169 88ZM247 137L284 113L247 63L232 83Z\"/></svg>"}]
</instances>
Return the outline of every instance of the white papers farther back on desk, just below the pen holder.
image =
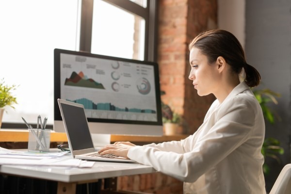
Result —
<instances>
[{"instance_id":1,"label":"white papers farther back on desk, just below the pen holder","mask_svg":"<svg viewBox=\"0 0 291 194\"><path fill-rule=\"evenodd\" d=\"M68 153L63 152L27 152L27 151L15 151L0 147L0 155L19 155L19 156L43 156L43 157L60 157Z\"/></svg>"}]
</instances>

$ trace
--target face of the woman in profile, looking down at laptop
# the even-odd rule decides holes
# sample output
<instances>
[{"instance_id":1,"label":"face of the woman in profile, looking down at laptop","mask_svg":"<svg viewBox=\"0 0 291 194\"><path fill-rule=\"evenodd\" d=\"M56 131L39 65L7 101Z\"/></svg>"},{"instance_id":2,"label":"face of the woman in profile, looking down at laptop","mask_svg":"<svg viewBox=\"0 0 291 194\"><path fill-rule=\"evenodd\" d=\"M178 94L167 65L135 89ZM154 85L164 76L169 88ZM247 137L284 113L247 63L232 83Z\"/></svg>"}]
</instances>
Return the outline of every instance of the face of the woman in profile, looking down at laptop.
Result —
<instances>
[{"instance_id":1,"label":"face of the woman in profile, looking down at laptop","mask_svg":"<svg viewBox=\"0 0 291 194\"><path fill-rule=\"evenodd\" d=\"M215 64L209 64L206 55L200 50L190 50L191 72L189 79L193 81L194 88L199 96L206 96L215 93L218 89L218 71Z\"/></svg>"}]
</instances>

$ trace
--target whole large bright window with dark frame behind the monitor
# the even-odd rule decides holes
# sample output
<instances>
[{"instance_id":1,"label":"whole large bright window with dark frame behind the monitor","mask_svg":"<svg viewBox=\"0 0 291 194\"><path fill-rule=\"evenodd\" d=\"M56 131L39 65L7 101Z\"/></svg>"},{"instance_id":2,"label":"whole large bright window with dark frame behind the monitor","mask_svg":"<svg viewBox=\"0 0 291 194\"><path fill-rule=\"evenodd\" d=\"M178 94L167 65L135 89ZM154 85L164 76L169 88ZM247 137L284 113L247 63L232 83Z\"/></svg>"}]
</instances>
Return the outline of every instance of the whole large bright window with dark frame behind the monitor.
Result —
<instances>
[{"instance_id":1,"label":"whole large bright window with dark frame behind the monitor","mask_svg":"<svg viewBox=\"0 0 291 194\"><path fill-rule=\"evenodd\" d=\"M156 61L156 10L156 0L1 1L0 78L18 85L2 128L39 114L53 123L55 48Z\"/></svg>"}]
</instances>

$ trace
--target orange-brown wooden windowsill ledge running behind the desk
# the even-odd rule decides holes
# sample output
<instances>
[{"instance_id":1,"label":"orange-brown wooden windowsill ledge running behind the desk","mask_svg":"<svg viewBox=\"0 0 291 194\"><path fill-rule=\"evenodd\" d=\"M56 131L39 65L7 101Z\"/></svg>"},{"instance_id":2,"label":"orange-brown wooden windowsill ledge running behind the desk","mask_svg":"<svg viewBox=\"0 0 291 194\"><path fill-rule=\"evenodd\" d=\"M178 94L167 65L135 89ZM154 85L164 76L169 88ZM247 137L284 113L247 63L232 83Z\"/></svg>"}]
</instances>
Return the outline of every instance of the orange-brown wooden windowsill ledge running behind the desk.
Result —
<instances>
[{"instance_id":1,"label":"orange-brown wooden windowsill ledge running behind the desk","mask_svg":"<svg viewBox=\"0 0 291 194\"><path fill-rule=\"evenodd\" d=\"M134 135L111 135L111 142L129 141L129 142L166 142L179 141L185 139L188 135L173 136L134 136ZM27 129L0 129L0 142L28 142ZM67 142L65 133L50 133L50 142Z\"/></svg>"}]
</instances>

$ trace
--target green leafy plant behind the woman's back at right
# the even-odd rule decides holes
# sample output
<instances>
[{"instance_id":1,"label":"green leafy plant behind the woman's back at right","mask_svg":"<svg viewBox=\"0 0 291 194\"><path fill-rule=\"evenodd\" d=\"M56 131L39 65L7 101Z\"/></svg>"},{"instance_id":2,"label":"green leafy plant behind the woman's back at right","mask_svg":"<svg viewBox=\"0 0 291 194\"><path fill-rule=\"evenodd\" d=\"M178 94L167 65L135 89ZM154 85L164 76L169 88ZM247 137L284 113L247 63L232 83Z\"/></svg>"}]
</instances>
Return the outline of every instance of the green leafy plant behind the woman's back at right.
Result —
<instances>
[{"instance_id":1,"label":"green leafy plant behind the woman's back at right","mask_svg":"<svg viewBox=\"0 0 291 194\"><path fill-rule=\"evenodd\" d=\"M269 89L263 90L255 90L253 91L255 97L259 101L259 105L261 106L264 118L271 124L275 123L275 118L280 120L279 116L275 116L275 112L272 111L268 107L269 102L273 102L274 104L278 104L276 97L280 97L281 95L273 92ZM284 154L284 148L280 146L280 141L275 138L269 137L264 140L263 146L261 148L261 153L266 159L266 157L274 158L277 162L280 162L280 159L277 155ZM268 175L270 172L270 167L266 162L263 164L263 172L265 175Z\"/></svg>"}]
</instances>

